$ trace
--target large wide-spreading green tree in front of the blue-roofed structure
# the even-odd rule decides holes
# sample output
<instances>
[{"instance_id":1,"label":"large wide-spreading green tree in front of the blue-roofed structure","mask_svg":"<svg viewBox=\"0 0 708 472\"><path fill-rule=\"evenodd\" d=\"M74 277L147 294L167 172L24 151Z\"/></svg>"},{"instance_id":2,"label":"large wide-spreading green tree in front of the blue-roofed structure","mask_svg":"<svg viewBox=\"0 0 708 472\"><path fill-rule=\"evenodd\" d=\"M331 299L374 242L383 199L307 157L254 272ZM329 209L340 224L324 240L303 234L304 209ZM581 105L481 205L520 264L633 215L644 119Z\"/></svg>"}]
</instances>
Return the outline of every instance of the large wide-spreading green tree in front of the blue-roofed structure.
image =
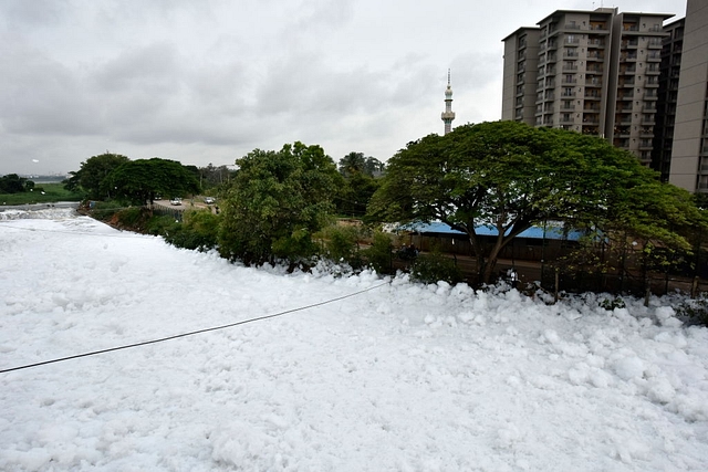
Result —
<instances>
[{"instance_id":1,"label":"large wide-spreading green tree in front of the blue-roofed structure","mask_svg":"<svg viewBox=\"0 0 708 472\"><path fill-rule=\"evenodd\" d=\"M548 220L638 233L690 249L680 228L700 214L690 195L606 140L516 122L457 127L409 143L386 166L369 214L388 222L441 221L469 237L481 282L500 251ZM478 234L497 230L492 242Z\"/></svg>"}]
</instances>

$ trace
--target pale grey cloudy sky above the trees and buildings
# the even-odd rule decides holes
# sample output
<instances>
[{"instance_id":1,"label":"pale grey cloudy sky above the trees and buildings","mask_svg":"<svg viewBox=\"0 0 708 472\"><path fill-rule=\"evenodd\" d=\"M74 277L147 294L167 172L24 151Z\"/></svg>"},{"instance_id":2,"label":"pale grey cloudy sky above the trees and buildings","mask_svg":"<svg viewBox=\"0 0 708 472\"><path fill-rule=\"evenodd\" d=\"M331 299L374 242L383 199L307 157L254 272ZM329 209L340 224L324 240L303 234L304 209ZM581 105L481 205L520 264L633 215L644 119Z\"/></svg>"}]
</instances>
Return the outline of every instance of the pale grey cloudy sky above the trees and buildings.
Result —
<instances>
[{"instance_id":1,"label":"pale grey cloudy sky above the trees and buildings","mask_svg":"<svg viewBox=\"0 0 708 472\"><path fill-rule=\"evenodd\" d=\"M559 9L686 0L2 0L0 175L106 150L199 167L319 144L388 159L501 117L501 39ZM669 20L673 21L673 20Z\"/></svg>"}]
</instances>

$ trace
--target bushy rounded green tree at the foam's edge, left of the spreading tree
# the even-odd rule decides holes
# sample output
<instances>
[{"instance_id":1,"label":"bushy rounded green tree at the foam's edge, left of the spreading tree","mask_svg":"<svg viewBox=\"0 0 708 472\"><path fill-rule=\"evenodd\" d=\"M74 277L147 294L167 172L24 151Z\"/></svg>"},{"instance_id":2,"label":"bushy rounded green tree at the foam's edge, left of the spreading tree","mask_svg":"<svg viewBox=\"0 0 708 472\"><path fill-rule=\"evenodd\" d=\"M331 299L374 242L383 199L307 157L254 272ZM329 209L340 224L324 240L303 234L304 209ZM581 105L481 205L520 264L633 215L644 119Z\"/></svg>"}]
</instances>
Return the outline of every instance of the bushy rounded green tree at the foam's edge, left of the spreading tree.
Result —
<instances>
[{"instance_id":1,"label":"bushy rounded green tree at the foam's edge, left of the spreading tree","mask_svg":"<svg viewBox=\"0 0 708 472\"><path fill-rule=\"evenodd\" d=\"M291 263L316 252L312 234L331 220L341 186L332 158L298 141L279 151L254 149L221 198L219 250L246 264Z\"/></svg>"}]
</instances>

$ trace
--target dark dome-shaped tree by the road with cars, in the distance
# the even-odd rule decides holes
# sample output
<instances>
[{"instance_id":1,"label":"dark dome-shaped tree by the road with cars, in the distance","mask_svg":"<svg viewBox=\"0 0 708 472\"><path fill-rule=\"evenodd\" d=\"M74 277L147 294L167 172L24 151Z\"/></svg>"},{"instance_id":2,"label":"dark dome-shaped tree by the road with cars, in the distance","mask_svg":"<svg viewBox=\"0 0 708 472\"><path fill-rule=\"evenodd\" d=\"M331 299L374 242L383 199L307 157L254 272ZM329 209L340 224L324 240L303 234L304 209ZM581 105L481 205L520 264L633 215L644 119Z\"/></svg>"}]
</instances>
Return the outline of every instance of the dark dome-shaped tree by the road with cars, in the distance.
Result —
<instances>
[{"instance_id":1,"label":"dark dome-shaped tree by the road with cars, in the distance","mask_svg":"<svg viewBox=\"0 0 708 472\"><path fill-rule=\"evenodd\" d=\"M199 191L194 172L176 160L128 160L114 169L102 183L104 193L112 192L133 203L153 203L155 196L184 196Z\"/></svg>"}]
</instances>

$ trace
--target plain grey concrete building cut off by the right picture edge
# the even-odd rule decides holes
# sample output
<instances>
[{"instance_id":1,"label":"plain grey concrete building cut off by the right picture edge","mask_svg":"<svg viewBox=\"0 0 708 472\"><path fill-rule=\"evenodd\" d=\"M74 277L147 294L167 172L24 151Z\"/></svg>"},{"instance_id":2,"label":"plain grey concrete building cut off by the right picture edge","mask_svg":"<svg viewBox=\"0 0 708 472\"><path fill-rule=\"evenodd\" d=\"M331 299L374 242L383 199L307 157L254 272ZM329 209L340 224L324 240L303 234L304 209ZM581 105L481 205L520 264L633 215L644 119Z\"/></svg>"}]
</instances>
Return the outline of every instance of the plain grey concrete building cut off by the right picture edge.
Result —
<instances>
[{"instance_id":1,"label":"plain grey concrete building cut off by the right picture edge","mask_svg":"<svg viewBox=\"0 0 708 472\"><path fill-rule=\"evenodd\" d=\"M708 3L688 0L669 182L708 192Z\"/></svg>"}]
</instances>

